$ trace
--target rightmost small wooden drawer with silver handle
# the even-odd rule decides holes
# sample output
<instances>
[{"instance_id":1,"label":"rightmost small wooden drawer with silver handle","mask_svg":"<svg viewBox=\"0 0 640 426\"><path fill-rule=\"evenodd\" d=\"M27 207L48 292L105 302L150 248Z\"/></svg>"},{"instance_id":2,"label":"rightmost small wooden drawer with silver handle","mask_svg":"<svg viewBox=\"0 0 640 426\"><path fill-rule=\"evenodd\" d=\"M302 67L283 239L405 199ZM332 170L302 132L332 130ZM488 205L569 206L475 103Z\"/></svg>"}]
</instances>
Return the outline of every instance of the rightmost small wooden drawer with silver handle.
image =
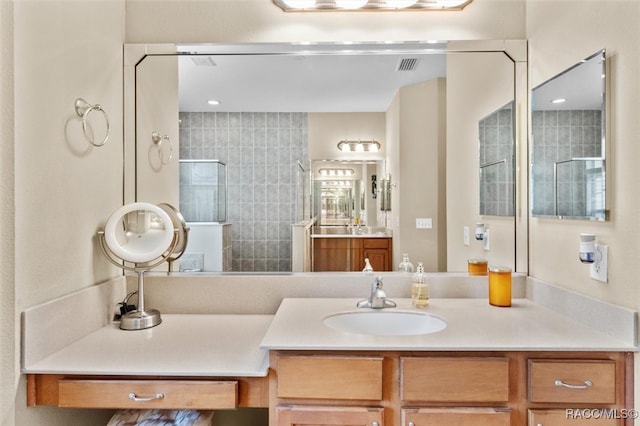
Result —
<instances>
[{"instance_id":1,"label":"rightmost small wooden drawer with silver handle","mask_svg":"<svg viewBox=\"0 0 640 426\"><path fill-rule=\"evenodd\" d=\"M612 360L529 360L532 402L616 402L616 364Z\"/></svg>"}]
</instances>

